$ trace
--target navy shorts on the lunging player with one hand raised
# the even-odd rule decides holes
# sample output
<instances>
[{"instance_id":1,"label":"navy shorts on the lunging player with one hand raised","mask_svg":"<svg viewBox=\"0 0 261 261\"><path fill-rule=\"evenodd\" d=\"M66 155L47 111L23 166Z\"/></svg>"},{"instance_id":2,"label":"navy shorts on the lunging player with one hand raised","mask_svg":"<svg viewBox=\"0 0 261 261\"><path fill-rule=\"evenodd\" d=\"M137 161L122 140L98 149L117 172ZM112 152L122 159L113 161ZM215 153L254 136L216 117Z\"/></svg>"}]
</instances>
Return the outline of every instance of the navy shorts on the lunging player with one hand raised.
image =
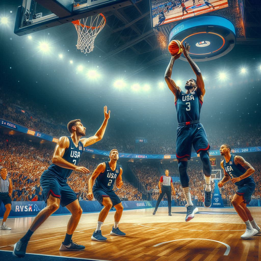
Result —
<instances>
[{"instance_id":1,"label":"navy shorts on the lunging player with one hand raised","mask_svg":"<svg viewBox=\"0 0 261 261\"><path fill-rule=\"evenodd\" d=\"M43 189L45 203L50 194L55 198L59 198L63 207L77 199L75 193L67 184L67 180L60 179L48 169L41 175L40 185Z\"/></svg>"}]
</instances>

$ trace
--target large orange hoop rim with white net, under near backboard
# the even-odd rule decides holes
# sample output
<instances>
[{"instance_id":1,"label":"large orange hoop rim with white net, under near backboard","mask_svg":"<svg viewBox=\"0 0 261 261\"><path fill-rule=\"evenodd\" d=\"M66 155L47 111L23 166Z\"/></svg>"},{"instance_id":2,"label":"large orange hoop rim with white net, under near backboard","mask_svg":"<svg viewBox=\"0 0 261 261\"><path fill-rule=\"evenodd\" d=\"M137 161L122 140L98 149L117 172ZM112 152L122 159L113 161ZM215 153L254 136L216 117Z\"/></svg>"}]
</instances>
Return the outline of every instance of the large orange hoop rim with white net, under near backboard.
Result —
<instances>
[{"instance_id":1,"label":"large orange hoop rim with white net, under near backboard","mask_svg":"<svg viewBox=\"0 0 261 261\"><path fill-rule=\"evenodd\" d=\"M106 23L103 14L93 15L72 22L78 34L77 49L89 53L94 48L94 40Z\"/></svg>"}]
</instances>

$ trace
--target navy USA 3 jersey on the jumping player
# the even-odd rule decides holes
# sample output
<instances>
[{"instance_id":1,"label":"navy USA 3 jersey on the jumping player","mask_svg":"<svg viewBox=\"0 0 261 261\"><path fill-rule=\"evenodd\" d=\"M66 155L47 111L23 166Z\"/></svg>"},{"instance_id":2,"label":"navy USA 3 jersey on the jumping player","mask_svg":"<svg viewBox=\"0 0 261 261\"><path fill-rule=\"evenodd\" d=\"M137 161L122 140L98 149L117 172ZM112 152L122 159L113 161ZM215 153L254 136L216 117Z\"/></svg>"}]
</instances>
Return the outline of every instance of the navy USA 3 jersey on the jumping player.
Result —
<instances>
[{"instance_id":1,"label":"navy USA 3 jersey on the jumping player","mask_svg":"<svg viewBox=\"0 0 261 261\"><path fill-rule=\"evenodd\" d=\"M203 102L199 99L196 90L189 94L181 91L179 98L175 102L178 123L199 121L202 104Z\"/></svg>"}]
</instances>

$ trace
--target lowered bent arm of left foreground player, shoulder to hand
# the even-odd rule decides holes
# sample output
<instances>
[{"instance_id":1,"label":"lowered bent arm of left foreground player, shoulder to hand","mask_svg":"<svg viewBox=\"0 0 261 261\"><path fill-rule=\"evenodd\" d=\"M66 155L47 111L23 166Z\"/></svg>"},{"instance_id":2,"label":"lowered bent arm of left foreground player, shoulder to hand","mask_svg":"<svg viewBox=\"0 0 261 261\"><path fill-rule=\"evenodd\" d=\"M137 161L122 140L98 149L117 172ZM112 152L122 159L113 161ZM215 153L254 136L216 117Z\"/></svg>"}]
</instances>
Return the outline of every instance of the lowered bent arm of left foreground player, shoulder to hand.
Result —
<instances>
[{"instance_id":1,"label":"lowered bent arm of left foreground player, shoulder to hand","mask_svg":"<svg viewBox=\"0 0 261 261\"><path fill-rule=\"evenodd\" d=\"M69 145L70 141L68 137L64 136L58 140L54 149L54 155L52 156L52 163L62 168L72 169L81 173L90 173L90 170L87 168L77 167L73 163L70 163L63 158L64 152L66 149L68 149Z\"/></svg>"}]
</instances>

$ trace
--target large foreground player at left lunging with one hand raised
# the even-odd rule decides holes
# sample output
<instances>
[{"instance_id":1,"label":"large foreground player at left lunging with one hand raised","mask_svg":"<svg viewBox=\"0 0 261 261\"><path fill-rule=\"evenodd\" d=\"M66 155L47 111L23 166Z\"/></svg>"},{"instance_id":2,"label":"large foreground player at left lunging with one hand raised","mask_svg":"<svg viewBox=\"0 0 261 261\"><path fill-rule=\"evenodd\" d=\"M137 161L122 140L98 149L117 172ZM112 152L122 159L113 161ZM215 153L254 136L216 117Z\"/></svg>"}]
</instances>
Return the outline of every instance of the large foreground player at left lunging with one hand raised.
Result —
<instances>
[{"instance_id":1,"label":"large foreground player at left lunging with one hand raised","mask_svg":"<svg viewBox=\"0 0 261 261\"><path fill-rule=\"evenodd\" d=\"M85 249L85 246L72 241L72 235L79 223L82 209L75 193L67 184L67 178L73 170L83 174L90 173L87 168L78 167L78 161L84 147L90 146L103 138L109 118L110 111L107 113L107 106L104 106L102 126L94 136L82 139L81 137L85 136L86 128L82 125L81 120L73 120L68 123L67 127L71 136L61 137L58 140L52 157L53 164L43 172L40 178L40 185L47 206L35 217L26 235L14 245L14 256L25 256L26 247L33 232L59 208L60 204L66 206L72 216L68 222L66 236L59 251L81 251Z\"/></svg>"}]
</instances>

